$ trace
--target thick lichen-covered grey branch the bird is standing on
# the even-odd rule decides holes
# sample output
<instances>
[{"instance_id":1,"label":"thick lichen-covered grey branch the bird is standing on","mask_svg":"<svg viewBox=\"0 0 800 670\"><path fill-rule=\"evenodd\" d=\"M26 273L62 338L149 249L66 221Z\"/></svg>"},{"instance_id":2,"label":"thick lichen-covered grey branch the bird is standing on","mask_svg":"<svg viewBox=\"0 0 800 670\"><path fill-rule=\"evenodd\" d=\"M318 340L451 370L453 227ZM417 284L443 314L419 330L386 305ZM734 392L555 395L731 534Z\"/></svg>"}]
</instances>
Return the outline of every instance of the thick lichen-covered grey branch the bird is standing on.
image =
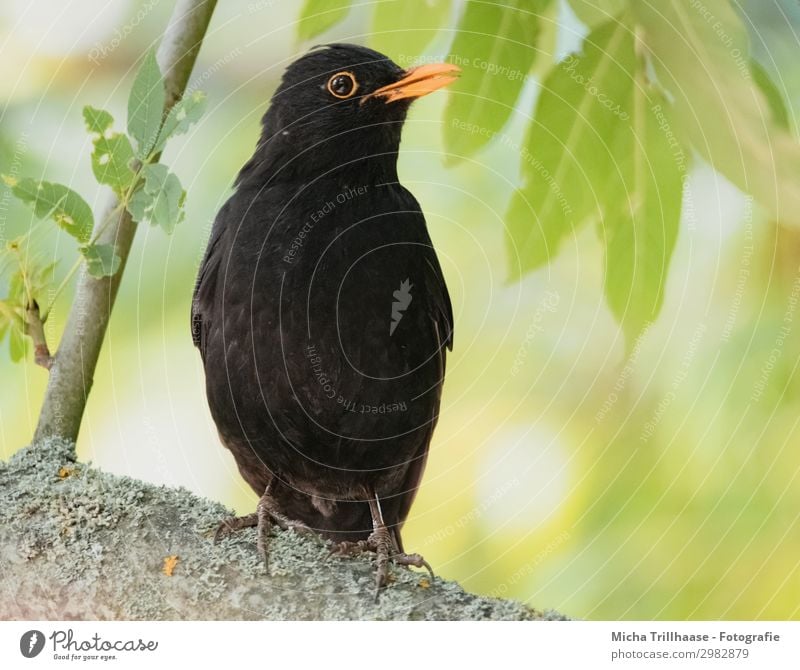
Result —
<instances>
[{"instance_id":1,"label":"thick lichen-covered grey branch the bird is standing on","mask_svg":"<svg viewBox=\"0 0 800 670\"><path fill-rule=\"evenodd\" d=\"M211 540L221 505L76 462L58 439L0 463L0 619L563 619L392 568L374 599L370 557L325 558L293 531Z\"/></svg>"}]
</instances>

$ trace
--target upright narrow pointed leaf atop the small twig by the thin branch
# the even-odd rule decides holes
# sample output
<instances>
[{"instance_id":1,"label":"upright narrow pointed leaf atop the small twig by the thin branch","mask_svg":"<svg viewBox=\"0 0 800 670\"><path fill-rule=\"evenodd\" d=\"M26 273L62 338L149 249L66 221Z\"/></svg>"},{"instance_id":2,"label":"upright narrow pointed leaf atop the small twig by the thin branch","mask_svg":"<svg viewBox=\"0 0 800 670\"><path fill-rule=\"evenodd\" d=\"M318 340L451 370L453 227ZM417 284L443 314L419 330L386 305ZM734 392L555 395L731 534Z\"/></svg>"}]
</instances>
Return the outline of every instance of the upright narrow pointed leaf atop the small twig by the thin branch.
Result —
<instances>
[{"instance_id":1,"label":"upright narrow pointed leaf atop the small twig by the thin branch","mask_svg":"<svg viewBox=\"0 0 800 670\"><path fill-rule=\"evenodd\" d=\"M136 141L136 155L145 160L153 151L164 113L164 80L153 49L133 80L128 98L128 134Z\"/></svg>"}]
</instances>

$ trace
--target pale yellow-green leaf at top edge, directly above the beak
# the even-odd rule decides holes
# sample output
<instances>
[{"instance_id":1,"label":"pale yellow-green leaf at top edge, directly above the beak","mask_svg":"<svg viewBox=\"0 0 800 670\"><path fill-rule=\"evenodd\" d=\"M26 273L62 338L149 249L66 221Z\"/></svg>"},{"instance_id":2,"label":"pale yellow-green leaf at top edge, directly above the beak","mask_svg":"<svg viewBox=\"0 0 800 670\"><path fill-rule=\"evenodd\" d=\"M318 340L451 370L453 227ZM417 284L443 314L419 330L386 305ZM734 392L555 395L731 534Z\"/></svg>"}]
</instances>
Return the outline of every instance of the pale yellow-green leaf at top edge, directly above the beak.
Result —
<instances>
[{"instance_id":1,"label":"pale yellow-green leaf at top edge, directly above the beak","mask_svg":"<svg viewBox=\"0 0 800 670\"><path fill-rule=\"evenodd\" d=\"M449 15L450 0L382 0L372 15L370 41L400 65L410 65Z\"/></svg>"}]
</instances>

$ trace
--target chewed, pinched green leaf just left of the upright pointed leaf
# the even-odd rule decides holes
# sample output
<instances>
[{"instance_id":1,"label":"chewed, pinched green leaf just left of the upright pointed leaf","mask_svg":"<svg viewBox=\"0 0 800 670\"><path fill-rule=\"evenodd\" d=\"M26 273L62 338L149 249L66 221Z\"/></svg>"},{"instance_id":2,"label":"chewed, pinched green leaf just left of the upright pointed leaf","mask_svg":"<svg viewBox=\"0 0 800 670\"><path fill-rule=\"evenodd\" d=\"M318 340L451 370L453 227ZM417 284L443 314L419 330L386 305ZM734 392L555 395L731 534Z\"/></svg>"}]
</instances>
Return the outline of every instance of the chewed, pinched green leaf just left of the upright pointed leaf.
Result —
<instances>
[{"instance_id":1,"label":"chewed, pinched green leaf just left of the upright pointed leaf","mask_svg":"<svg viewBox=\"0 0 800 670\"><path fill-rule=\"evenodd\" d=\"M83 108L86 128L94 133L92 140L92 171L97 181L108 184L122 198L131 187L136 175L131 169L133 147L127 135L112 133L114 119L108 112L91 106Z\"/></svg>"}]
</instances>

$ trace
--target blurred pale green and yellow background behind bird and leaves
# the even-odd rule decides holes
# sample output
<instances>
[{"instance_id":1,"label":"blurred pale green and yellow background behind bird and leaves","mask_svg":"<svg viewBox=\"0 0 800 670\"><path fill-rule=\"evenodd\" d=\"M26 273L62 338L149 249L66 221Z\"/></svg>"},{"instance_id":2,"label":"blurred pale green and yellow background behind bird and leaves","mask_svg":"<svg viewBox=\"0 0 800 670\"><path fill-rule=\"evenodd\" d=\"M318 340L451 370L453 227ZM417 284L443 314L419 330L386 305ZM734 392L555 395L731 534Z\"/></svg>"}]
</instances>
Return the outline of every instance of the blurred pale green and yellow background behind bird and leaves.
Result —
<instances>
[{"instance_id":1,"label":"blurred pale green and yellow background behind bird and leaves","mask_svg":"<svg viewBox=\"0 0 800 670\"><path fill-rule=\"evenodd\" d=\"M81 108L107 108L123 126L135 61L172 5L4 0L0 172L63 182L97 210L108 192L91 175ZM311 44L297 40L299 8L219 3L190 81L207 92L208 112L164 159L188 191L186 220L171 237L140 227L78 445L81 459L103 469L182 485L240 513L256 498L216 437L189 302L211 222L269 97ZM316 42L381 48L396 39L370 37L369 12L354 8ZM771 16L759 27L772 73L797 91L797 38ZM553 17L558 31L540 46L549 60L586 33L563 3ZM440 30L425 57L446 55L452 32ZM529 78L506 129L517 147L537 95ZM406 546L468 589L581 618L797 619L800 233L695 161L663 309L626 349L603 299L592 230L568 236L550 265L508 281L504 212L519 149L495 142L446 167L446 99L415 103L400 156L456 319ZM800 100L788 102L796 118ZM32 222L3 187L3 244ZM46 225L34 241L69 268L74 245ZM70 297L52 311L51 345ZM2 458L29 441L47 376L30 361L12 364L6 347Z\"/></svg>"}]
</instances>

